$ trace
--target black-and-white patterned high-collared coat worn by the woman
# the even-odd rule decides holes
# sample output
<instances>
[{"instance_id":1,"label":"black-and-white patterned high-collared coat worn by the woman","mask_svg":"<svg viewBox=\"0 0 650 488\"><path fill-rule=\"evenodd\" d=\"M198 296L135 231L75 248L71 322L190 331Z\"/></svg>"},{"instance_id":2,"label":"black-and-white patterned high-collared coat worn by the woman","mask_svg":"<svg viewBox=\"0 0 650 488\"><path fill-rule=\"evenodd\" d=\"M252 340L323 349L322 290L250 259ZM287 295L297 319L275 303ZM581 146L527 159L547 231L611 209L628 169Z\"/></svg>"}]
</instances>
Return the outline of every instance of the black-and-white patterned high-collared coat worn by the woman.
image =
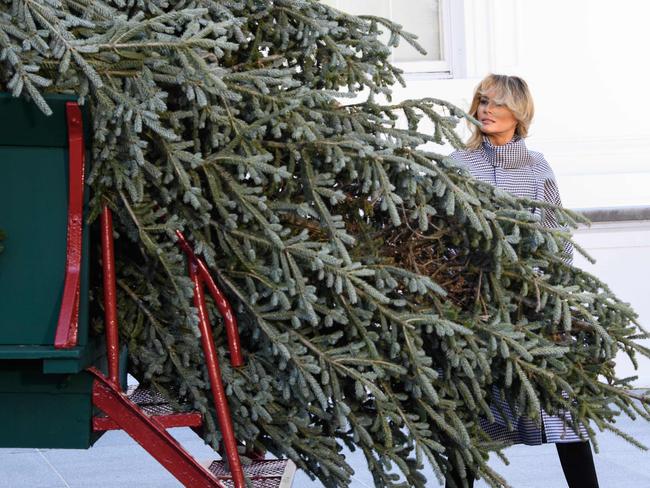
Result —
<instances>
[{"instance_id":1,"label":"black-and-white patterned high-collared coat worn by the woman","mask_svg":"<svg viewBox=\"0 0 650 488\"><path fill-rule=\"evenodd\" d=\"M562 205L553 170L544 156L539 152L529 151L521 138L515 137L503 146L494 146L487 137L484 137L480 149L455 151L450 157L461 163L478 180L490 183L518 197ZM534 211L541 212L539 209ZM558 226L553 212L543 212L542 225ZM572 252L570 245L567 245L566 251L570 255ZM496 421L490 424L486 420L483 422L483 428L494 440L508 444L538 445L544 440L563 443L587 439L584 426L580 427L583 435L581 439L562 417L549 415L542 410L542 430L531 418L512 412L508 403L500 399L496 390L493 396L513 426L513 430L509 430L508 422L499 413L499 408L493 406L491 410ZM565 418L570 419L568 413Z\"/></svg>"}]
</instances>

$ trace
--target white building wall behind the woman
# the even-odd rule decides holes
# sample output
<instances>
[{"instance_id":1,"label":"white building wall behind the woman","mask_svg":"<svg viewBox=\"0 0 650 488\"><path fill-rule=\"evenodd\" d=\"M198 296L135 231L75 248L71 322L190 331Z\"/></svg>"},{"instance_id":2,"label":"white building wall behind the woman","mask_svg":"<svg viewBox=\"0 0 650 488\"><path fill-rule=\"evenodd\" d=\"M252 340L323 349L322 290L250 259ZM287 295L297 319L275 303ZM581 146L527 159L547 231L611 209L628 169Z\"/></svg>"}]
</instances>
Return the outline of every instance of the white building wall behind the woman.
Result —
<instances>
[{"instance_id":1,"label":"white building wall behind the woman","mask_svg":"<svg viewBox=\"0 0 650 488\"><path fill-rule=\"evenodd\" d=\"M452 1L465 11L466 77L407 77L395 99L434 96L468 108L489 72L522 76L536 103L528 145L551 163L565 206L650 205L650 2ZM650 329L650 223L599 224L576 239L598 260L576 264ZM619 367L632 374L626 361ZM638 374L637 384L650 386L650 361Z\"/></svg>"}]
</instances>

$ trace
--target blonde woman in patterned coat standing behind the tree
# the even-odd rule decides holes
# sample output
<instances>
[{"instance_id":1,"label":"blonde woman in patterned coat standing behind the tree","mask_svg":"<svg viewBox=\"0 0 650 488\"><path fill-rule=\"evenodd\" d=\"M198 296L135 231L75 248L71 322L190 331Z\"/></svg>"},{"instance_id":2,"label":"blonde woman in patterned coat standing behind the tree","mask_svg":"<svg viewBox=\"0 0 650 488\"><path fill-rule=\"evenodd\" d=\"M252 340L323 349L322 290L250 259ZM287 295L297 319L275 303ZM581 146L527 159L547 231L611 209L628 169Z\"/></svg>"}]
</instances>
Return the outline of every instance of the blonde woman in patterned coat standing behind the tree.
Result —
<instances>
[{"instance_id":1,"label":"blonde woman in patterned coat standing behind the tree","mask_svg":"<svg viewBox=\"0 0 650 488\"><path fill-rule=\"evenodd\" d=\"M561 205L551 167L541 153L529 151L524 142L533 113L533 100L524 80L516 76L487 76L476 88L470 108L470 115L481 123L480 129L473 127L467 149L456 151L451 157L481 181L519 197ZM558 225L553 212L542 215L542 224L548 227ZM566 251L567 259L571 259L571 247L567 245ZM506 402L502 404L515 430L506 428L506 422L495 408L497 421L484 425L492 438L511 444L553 442L569 487L598 487L588 441L565 427L560 417L542 411L540 428L529 418L513 415ZM462 486L458 476L454 474L453 477L456 484ZM472 484L470 480L470 486Z\"/></svg>"}]
</instances>

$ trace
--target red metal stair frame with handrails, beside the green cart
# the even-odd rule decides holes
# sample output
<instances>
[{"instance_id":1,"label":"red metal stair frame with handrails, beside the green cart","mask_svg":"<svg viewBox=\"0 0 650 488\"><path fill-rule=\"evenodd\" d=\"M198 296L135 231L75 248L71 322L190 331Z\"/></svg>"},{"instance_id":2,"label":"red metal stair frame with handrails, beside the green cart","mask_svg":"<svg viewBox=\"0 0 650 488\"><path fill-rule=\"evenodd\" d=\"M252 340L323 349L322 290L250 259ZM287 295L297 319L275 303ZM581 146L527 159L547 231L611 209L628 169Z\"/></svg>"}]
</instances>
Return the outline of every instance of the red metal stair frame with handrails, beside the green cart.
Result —
<instances>
[{"instance_id":1,"label":"red metal stair frame with handrails, beside the green cart","mask_svg":"<svg viewBox=\"0 0 650 488\"><path fill-rule=\"evenodd\" d=\"M113 248L113 219L110 209L105 206L101 215L102 268L104 274L104 313L106 328L106 347L108 354L108 377L98 370L89 371L95 376L93 383L93 404L106 413L107 417L95 417L93 428L96 431L122 429L133 437L149 454L160 462L181 483L192 487L218 487L221 485L207 469L198 464L183 447L167 432L170 427L199 427L201 416L196 413L148 416L120 391L119 385L119 333L117 321L117 301L115 286L115 254ZM237 452L232 418L226 399L226 392L221 379L219 360L214 346L203 287L207 275L207 285L216 290L212 295L219 310L228 317L230 324L229 341L231 356L238 364L243 364L239 348L239 335L232 308L209 276L207 267L200 262L194 252L185 243L189 251L189 273L194 283L194 304L199 311L199 328L201 343L206 358L210 377L210 387L217 410L217 420L224 439L224 447L232 481L235 488L245 488L244 473ZM200 267L203 267L202 272ZM218 301L219 300L219 301ZM234 351L234 354L232 352Z\"/></svg>"}]
</instances>

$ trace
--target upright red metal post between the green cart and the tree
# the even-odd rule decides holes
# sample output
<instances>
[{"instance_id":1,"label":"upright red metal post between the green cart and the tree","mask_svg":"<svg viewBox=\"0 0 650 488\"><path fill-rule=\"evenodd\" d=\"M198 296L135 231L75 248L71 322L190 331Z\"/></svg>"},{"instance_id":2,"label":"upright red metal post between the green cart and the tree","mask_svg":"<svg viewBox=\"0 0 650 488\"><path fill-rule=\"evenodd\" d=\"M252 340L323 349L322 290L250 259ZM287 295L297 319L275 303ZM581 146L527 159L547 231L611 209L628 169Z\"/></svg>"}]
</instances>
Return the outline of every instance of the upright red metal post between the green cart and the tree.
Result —
<instances>
[{"instance_id":1,"label":"upright red metal post between the green cart and the tree","mask_svg":"<svg viewBox=\"0 0 650 488\"><path fill-rule=\"evenodd\" d=\"M102 269L104 274L104 328L106 333L106 354L108 378L120 383L120 340L117 329L117 299L115 289L115 252L113 250L113 215L104 206L101 215Z\"/></svg>"}]
</instances>

